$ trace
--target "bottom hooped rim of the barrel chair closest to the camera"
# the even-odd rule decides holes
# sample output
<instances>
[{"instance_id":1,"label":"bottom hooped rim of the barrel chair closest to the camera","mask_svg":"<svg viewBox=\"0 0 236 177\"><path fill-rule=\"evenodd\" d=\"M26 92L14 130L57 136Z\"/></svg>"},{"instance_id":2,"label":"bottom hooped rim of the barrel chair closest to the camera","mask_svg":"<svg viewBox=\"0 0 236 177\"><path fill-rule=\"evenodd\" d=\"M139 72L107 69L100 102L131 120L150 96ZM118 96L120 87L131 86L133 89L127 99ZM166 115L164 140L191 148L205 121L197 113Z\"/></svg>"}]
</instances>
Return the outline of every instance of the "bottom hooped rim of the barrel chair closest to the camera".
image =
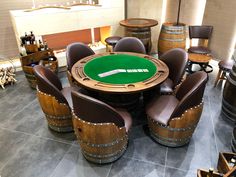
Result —
<instances>
[{"instance_id":1,"label":"bottom hooped rim of the barrel chair closest to the camera","mask_svg":"<svg viewBox=\"0 0 236 177\"><path fill-rule=\"evenodd\" d=\"M104 155L103 157L96 154L90 154L85 150L82 150L82 154L86 160L96 164L106 164L118 160L126 151L127 146L124 146L120 151L114 154Z\"/></svg>"}]
</instances>

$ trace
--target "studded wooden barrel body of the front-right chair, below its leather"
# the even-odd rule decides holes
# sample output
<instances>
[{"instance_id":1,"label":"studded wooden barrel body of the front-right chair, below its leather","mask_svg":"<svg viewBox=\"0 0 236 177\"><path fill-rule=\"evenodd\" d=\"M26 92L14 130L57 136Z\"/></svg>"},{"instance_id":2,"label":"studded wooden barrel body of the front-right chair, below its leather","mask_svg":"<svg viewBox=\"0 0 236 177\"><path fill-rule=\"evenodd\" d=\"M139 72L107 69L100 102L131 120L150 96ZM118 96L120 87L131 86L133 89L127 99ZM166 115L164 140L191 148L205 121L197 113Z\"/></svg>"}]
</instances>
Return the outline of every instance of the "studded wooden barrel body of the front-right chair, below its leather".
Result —
<instances>
[{"instance_id":1,"label":"studded wooden barrel body of the front-right chair, below its leather","mask_svg":"<svg viewBox=\"0 0 236 177\"><path fill-rule=\"evenodd\" d=\"M201 117L203 104L186 110L181 117L172 118L163 125L148 117L151 137L160 144L179 147L187 144Z\"/></svg>"}]
</instances>

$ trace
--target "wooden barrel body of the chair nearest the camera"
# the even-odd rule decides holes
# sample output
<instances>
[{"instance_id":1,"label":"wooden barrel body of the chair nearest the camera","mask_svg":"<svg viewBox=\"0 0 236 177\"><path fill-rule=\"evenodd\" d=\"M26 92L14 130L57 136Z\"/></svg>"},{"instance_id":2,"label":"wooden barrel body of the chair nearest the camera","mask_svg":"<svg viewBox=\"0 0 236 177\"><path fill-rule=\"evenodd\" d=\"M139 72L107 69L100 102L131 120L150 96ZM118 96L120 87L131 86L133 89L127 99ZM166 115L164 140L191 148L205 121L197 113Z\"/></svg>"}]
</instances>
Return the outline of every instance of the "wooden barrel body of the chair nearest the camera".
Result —
<instances>
[{"instance_id":1,"label":"wooden barrel body of the chair nearest the camera","mask_svg":"<svg viewBox=\"0 0 236 177\"><path fill-rule=\"evenodd\" d=\"M91 123L72 114L74 131L84 157L91 162L103 164L120 158L128 144L125 127L114 123Z\"/></svg>"}]
</instances>

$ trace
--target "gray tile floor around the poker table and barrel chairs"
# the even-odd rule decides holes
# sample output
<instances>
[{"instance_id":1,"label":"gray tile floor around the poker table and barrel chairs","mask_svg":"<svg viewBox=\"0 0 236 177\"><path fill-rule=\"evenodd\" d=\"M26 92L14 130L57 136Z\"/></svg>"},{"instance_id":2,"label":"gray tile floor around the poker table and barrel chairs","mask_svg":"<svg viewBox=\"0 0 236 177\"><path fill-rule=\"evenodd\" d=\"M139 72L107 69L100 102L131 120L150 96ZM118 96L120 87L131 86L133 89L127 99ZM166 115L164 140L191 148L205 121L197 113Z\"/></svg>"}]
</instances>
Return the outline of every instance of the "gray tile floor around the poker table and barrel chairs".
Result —
<instances>
[{"instance_id":1,"label":"gray tile floor around the poker table and barrel chairs","mask_svg":"<svg viewBox=\"0 0 236 177\"><path fill-rule=\"evenodd\" d=\"M0 176L196 177L198 168L216 168L219 151L231 151L233 129L221 115L222 84L213 88L217 71L209 74L203 114L188 145L168 148L155 143L145 117L138 117L126 153L107 165L87 162L73 133L48 129L36 92L24 74L17 73L17 84L0 90ZM65 73L59 76L68 85Z\"/></svg>"}]
</instances>

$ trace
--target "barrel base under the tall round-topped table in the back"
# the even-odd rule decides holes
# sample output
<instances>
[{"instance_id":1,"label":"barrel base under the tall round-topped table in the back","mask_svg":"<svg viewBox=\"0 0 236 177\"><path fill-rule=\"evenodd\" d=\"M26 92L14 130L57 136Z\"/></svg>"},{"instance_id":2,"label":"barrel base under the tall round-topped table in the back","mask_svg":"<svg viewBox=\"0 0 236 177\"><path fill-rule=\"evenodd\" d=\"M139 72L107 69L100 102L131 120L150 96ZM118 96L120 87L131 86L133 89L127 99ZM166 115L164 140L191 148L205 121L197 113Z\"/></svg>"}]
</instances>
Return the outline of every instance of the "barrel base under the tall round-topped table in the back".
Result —
<instances>
[{"instance_id":1,"label":"barrel base under the tall round-topped table in the back","mask_svg":"<svg viewBox=\"0 0 236 177\"><path fill-rule=\"evenodd\" d=\"M126 27L126 36L136 37L142 41L145 46L146 52L150 53L152 49L152 40L151 40L151 28L128 28Z\"/></svg>"}]
</instances>

